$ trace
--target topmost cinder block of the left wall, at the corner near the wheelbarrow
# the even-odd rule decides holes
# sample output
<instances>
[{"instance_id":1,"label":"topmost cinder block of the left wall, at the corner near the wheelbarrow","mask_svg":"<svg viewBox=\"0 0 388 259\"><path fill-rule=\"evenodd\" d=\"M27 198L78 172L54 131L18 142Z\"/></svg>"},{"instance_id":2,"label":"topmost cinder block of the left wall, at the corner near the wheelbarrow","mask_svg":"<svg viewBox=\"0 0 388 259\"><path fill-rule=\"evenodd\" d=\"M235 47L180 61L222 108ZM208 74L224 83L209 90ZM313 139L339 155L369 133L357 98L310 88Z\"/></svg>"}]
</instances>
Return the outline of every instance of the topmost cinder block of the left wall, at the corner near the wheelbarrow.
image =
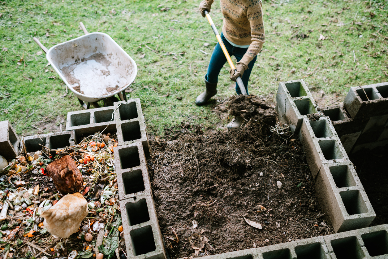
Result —
<instances>
[{"instance_id":1,"label":"topmost cinder block of the left wall, at the corner near the wheelbarrow","mask_svg":"<svg viewBox=\"0 0 388 259\"><path fill-rule=\"evenodd\" d=\"M140 99L116 102L114 110L119 143L127 145L141 142L145 156L148 157L150 150Z\"/></svg>"}]
</instances>

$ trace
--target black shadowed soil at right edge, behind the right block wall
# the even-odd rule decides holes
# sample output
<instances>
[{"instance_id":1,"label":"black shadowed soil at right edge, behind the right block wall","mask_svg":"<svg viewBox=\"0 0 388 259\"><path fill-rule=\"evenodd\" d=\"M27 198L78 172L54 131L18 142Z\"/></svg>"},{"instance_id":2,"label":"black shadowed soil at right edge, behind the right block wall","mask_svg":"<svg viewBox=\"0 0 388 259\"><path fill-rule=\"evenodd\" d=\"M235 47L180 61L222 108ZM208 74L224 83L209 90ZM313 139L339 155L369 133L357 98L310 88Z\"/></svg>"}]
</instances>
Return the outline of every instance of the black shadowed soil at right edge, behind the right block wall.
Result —
<instances>
[{"instance_id":1,"label":"black shadowed soil at right edge, behind the right block wall","mask_svg":"<svg viewBox=\"0 0 388 259\"><path fill-rule=\"evenodd\" d=\"M388 223L388 167L386 148L360 151L350 156L365 192L372 204L376 218L371 226Z\"/></svg>"}]
</instances>

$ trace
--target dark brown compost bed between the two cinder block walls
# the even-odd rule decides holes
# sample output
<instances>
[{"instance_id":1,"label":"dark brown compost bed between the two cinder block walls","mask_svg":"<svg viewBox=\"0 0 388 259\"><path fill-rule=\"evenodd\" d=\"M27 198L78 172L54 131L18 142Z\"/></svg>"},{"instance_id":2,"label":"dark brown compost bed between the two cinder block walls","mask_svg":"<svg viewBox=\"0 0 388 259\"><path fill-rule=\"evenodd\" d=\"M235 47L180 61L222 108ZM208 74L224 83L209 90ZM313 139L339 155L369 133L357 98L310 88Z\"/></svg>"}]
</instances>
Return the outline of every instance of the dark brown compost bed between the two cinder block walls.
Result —
<instances>
[{"instance_id":1,"label":"dark brown compost bed between the two cinder block walls","mask_svg":"<svg viewBox=\"0 0 388 259\"><path fill-rule=\"evenodd\" d=\"M207 133L182 123L151 141L149 172L166 250L192 258L333 233L287 125Z\"/></svg>"}]
</instances>

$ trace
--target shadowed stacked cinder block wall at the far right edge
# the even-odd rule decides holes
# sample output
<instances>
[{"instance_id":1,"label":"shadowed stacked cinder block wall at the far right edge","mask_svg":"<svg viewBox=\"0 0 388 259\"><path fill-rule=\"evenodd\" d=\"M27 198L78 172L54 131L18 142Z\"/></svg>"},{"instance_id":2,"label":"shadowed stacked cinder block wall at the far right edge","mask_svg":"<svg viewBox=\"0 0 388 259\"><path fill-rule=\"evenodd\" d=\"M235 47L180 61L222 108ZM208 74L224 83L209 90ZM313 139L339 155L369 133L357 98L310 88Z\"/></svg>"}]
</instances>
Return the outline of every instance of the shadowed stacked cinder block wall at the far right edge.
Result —
<instances>
[{"instance_id":1,"label":"shadowed stacked cinder block wall at the far right edge","mask_svg":"<svg viewBox=\"0 0 388 259\"><path fill-rule=\"evenodd\" d=\"M333 122L346 153L388 145L388 83L350 88L341 105L323 113Z\"/></svg>"}]
</instances>

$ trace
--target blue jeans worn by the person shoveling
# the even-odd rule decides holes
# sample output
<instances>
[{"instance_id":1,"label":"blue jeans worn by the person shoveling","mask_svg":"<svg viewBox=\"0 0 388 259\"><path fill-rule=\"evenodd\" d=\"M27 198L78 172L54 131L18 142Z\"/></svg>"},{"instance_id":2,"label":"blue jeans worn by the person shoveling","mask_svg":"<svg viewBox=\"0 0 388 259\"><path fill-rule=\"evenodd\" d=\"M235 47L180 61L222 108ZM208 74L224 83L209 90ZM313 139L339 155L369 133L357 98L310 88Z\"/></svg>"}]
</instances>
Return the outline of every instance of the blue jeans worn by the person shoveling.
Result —
<instances>
[{"instance_id":1,"label":"blue jeans worn by the person shoveling","mask_svg":"<svg viewBox=\"0 0 388 259\"><path fill-rule=\"evenodd\" d=\"M248 48L243 49L239 47L234 47L225 39L222 33L221 33L221 38L222 38L223 44L228 50L229 55L236 57L237 62L240 61ZM244 74L242 75L242 78L241 78L247 93L248 93L248 79L249 79L249 76L251 75L253 65L256 62L256 58L257 56L251 62L249 62L248 69L244 71ZM223 54L222 52L220 43L217 43L216 47L214 48L213 54L211 54L208 73L206 73L206 76L205 76L206 81L208 81L209 83L217 83L218 74L220 73L223 65L226 62L227 62L227 59L225 57L225 54ZM237 85L237 83L236 83L236 92L237 94L241 94L240 88Z\"/></svg>"}]
</instances>

